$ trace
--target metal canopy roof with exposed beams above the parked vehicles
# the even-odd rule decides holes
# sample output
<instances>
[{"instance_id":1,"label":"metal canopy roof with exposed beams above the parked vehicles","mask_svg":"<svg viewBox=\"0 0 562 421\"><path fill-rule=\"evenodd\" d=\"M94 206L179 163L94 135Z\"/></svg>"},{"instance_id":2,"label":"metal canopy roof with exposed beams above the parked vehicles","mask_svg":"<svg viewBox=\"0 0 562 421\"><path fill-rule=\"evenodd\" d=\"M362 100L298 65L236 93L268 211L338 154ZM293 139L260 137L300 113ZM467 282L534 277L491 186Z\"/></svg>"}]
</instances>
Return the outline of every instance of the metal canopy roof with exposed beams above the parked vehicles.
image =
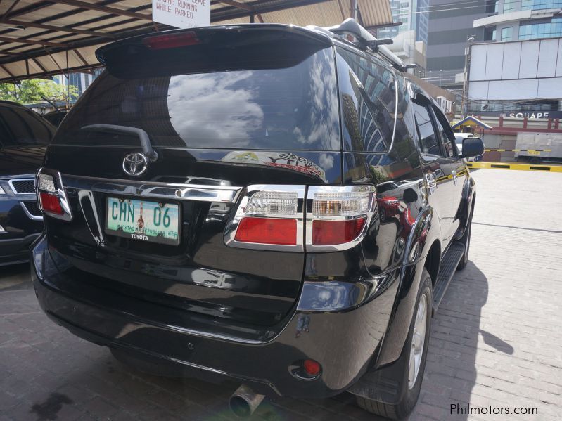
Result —
<instances>
[{"instance_id":1,"label":"metal canopy roof with exposed beams above the parked vehicles","mask_svg":"<svg viewBox=\"0 0 562 421\"><path fill-rule=\"evenodd\" d=\"M212 0L212 24L330 26L352 15L364 27L392 25L389 0ZM152 22L148 0L0 0L0 82L88 72L96 48L172 29Z\"/></svg>"}]
</instances>

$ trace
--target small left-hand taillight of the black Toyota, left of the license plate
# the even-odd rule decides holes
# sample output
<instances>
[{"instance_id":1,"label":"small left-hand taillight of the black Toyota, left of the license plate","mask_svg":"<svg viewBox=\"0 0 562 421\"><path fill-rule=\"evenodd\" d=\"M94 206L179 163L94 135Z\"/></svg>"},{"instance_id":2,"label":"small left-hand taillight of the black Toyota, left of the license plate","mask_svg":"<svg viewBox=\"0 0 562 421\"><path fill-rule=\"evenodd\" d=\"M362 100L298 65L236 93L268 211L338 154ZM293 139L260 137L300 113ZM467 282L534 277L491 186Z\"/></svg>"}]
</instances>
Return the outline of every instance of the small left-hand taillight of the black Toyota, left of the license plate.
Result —
<instances>
[{"instance_id":1,"label":"small left-hand taillight of the black Toyota, left of the license plate","mask_svg":"<svg viewBox=\"0 0 562 421\"><path fill-rule=\"evenodd\" d=\"M37 186L37 203L44 214L65 221L72 219L72 211L60 173L44 168L39 169L35 178L35 186Z\"/></svg>"}]
</instances>

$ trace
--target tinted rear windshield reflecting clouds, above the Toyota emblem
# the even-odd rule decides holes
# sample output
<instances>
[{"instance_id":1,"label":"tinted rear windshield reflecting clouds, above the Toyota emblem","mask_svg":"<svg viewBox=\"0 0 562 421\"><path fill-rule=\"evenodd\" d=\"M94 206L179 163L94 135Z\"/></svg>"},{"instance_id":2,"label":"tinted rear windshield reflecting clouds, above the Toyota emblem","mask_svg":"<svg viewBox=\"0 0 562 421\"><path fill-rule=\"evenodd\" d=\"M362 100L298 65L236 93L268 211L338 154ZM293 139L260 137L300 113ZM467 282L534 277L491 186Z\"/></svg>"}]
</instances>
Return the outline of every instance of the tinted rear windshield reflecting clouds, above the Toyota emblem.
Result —
<instances>
[{"instance_id":1,"label":"tinted rear windshield reflecting clouds, above the Toyota emblem","mask_svg":"<svg viewBox=\"0 0 562 421\"><path fill-rule=\"evenodd\" d=\"M122 77L104 72L54 143L140 145L132 134L84 128L111 124L143 129L158 147L340 150L331 48L283 68Z\"/></svg>"}]
</instances>

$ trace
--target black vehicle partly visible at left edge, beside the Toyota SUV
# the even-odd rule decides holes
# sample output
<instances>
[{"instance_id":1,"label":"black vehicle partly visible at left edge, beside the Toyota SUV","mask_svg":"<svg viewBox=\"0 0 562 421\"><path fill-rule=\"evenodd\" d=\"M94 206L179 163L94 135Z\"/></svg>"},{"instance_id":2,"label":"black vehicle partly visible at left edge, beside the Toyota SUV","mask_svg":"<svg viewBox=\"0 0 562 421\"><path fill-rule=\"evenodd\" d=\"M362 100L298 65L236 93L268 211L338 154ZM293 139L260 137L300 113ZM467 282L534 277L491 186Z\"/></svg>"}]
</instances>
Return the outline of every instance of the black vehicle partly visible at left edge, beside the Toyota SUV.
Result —
<instances>
[{"instance_id":1,"label":"black vehicle partly visible at left edge, beside the Toyota SUV","mask_svg":"<svg viewBox=\"0 0 562 421\"><path fill-rule=\"evenodd\" d=\"M36 112L0 101L0 266L28 261L43 231L34 177L54 131Z\"/></svg>"}]
</instances>

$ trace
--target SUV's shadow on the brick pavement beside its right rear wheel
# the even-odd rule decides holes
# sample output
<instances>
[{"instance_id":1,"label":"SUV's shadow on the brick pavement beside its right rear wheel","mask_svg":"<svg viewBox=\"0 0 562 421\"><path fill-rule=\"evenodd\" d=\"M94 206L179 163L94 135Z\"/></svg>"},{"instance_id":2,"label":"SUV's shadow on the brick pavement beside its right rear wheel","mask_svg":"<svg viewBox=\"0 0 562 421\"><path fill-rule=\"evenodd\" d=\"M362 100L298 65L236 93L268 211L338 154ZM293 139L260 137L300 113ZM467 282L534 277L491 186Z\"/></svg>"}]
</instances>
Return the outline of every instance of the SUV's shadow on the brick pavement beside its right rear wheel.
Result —
<instances>
[{"instance_id":1,"label":"SUV's shadow on the brick pavement beside its right rear wheel","mask_svg":"<svg viewBox=\"0 0 562 421\"><path fill-rule=\"evenodd\" d=\"M487 297L486 276L468 261L463 271L456 272L433 319L426 374L411 420L416 413L439 420L468 420L467 406L478 406L471 403L473 389L482 381L476 369L478 352L486 352L482 342L479 348L480 337L497 351L513 354L513 346L480 328Z\"/></svg>"}]
</instances>

